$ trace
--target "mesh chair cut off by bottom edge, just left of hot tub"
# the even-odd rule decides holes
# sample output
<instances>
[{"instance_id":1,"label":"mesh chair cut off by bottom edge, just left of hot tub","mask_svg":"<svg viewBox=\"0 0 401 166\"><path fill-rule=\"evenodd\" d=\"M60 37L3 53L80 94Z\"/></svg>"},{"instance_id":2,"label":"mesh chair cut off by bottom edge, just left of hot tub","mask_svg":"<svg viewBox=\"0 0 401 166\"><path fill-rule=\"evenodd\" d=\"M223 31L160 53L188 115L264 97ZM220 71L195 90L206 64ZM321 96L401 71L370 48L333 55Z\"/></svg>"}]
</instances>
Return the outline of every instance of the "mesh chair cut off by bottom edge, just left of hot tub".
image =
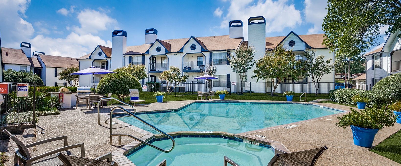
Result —
<instances>
[{"instance_id":1,"label":"mesh chair cut off by bottom edge, just left of hot tub","mask_svg":"<svg viewBox=\"0 0 401 166\"><path fill-rule=\"evenodd\" d=\"M111 161L111 153L107 153L96 159L77 157L63 153L57 153L56 156L65 166L119 166L116 162Z\"/></svg>"}]
</instances>

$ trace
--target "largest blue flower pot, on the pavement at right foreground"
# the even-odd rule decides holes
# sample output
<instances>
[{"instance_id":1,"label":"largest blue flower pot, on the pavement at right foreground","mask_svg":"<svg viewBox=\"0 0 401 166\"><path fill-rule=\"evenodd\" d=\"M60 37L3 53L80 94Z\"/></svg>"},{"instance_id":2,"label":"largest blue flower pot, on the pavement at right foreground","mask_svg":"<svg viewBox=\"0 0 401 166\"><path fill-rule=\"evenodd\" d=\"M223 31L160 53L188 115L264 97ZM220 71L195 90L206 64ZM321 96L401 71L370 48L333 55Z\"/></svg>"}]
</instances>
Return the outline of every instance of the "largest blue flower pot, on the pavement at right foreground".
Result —
<instances>
[{"instance_id":1,"label":"largest blue flower pot, on the pavement at right foreground","mask_svg":"<svg viewBox=\"0 0 401 166\"><path fill-rule=\"evenodd\" d=\"M365 148L372 147L373 140L379 129L377 128L362 128L358 126L352 126L352 137L354 138L354 144L356 146L362 146Z\"/></svg>"}]
</instances>

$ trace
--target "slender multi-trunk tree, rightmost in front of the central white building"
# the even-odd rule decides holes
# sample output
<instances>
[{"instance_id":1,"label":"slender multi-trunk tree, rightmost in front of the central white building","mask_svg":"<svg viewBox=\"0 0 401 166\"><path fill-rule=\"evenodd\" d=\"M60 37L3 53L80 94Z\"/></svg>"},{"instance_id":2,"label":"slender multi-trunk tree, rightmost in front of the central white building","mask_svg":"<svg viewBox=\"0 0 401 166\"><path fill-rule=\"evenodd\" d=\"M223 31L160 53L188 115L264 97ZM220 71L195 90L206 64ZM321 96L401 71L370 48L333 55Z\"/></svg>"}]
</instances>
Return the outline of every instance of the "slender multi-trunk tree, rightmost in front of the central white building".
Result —
<instances>
[{"instance_id":1,"label":"slender multi-trunk tree, rightmost in front of the central white building","mask_svg":"<svg viewBox=\"0 0 401 166\"><path fill-rule=\"evenodd\" d=\"M318 95L319 83L324 74L333 71L332 59L324 60L323 55L316 56L315 50L310 50L305 54L306 57L306 75L310 76L315 85L316 96Z\"/></svg>"}]
</instances>

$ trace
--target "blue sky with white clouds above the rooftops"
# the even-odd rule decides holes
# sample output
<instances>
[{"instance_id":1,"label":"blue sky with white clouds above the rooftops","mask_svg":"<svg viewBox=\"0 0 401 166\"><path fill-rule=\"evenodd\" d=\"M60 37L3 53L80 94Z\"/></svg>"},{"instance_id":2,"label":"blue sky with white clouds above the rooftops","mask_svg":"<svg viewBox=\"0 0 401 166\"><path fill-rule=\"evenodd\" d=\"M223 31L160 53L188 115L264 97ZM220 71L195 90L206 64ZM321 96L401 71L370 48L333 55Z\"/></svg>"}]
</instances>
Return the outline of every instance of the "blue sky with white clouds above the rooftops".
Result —
<instances>
[{"instance_id":1,"label":"blue sky with white clouds above the rooftops","mask_svg":"<svg viewBox=\"0 0 401 166\"><path fill-rule=\"evenodd\" d=\"M97 44L111 46L111 32L128 33L127 45L144 43L146 28L159 39L227 35L230 20L266 18L266 36L323 33L324 0L43 1L1 0L3 47L30 42L33 51L80 57ZM247 38L247 26L244 25ZM382 38L380 40L383 40ZM383 41L382 41L383 42Z\"/></svg>"}]
</instances>

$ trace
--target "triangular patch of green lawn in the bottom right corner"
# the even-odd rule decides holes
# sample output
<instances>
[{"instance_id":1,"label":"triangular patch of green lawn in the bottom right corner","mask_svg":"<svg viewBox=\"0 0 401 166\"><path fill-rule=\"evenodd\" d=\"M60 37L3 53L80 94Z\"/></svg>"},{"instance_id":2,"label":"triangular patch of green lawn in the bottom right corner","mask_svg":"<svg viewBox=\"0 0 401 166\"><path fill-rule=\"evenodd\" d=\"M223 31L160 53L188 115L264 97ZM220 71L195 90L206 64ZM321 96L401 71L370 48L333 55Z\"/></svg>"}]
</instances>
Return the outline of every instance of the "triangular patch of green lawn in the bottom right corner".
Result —
<instances>
[{"instance_id":1,"label":"triangular patch of green lawn in the bottom right corner","mask_svg":"<svg viewBox=\"0 0 401 166\"><path fill-rule=\"evenodd\" d=\"M401 130L377 144L371 151L401 164Z\"/></svg>"}]
</instances>

